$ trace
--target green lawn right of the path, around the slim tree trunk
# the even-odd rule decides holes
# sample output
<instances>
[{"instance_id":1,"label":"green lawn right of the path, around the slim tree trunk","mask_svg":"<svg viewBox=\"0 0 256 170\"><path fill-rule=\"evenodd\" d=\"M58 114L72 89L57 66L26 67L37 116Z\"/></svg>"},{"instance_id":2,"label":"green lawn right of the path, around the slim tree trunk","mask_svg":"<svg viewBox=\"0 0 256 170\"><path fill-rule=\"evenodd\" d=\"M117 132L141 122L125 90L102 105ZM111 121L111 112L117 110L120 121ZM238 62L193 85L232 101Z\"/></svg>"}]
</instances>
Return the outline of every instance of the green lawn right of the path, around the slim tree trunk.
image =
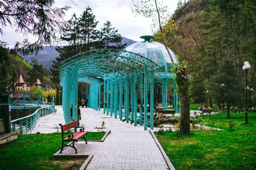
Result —
<instances>
[{"instance_id":1,"label":"green lawn right of the path, around the slim tree trunk","mask_svg":"<svg viewBox=\"0 0 256 170\"><path fill-rule=\"evenodd\" d=\"M228 122L235 126L229 130ZM202 124L223 131L191 131L156 133L158 140L177 169L255 169L256 114L248 114L250 125L243 125L244 114L204 116Z\"/></svg>"}]
</instances>

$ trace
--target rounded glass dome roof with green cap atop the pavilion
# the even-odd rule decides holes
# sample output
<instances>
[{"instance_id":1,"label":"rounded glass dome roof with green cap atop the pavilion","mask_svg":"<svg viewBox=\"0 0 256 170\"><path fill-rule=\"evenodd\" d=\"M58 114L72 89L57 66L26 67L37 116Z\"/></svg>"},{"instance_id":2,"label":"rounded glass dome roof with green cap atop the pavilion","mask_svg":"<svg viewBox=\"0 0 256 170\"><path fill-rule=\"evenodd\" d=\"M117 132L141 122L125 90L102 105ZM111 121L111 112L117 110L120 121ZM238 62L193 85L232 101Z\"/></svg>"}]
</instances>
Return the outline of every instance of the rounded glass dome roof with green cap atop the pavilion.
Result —
<instances>
[{"instance_id":1,"label":"rounded glass dome roof with green cap atop the pavilion","mask_svg":"<svg viewBox=\"0 0 256 170\"><path fill-rule=\"evenodd\" d=\"M158 65L164 66L163 72L171 72L170 69L172 68L172 61L168 55L168 52L166 51L165 46L159 42L150 41L153 36L142 36L140 38L143 38L144 41L131 44L125 48L126 51L143 55L146 58L156 62ZM173 53L173 51L171 51L170 48L168 49L171 52L174 63L177 64L178 60L176 55Z\"/></svg>"}]
</instances>

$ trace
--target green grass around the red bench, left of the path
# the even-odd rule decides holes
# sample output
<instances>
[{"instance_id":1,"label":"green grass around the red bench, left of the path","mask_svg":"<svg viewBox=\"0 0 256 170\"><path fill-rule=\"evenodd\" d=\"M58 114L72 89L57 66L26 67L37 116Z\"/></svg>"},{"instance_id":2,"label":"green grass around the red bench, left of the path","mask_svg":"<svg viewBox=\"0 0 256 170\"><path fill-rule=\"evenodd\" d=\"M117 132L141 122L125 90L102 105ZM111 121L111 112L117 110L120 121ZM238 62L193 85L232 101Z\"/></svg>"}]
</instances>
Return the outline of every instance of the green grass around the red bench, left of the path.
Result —
<instances>
[{"instance_id":1,"label":"green grass around the red bench, left of the path","mask_svg":"<svg viewBox=\"0 0 256 170\"><path fill-rule=\"evenodd\" d=\"M90 132L86 139L97 140L105 132ZM61 134L19 134L18 139L0 145L0 169L70 169L79 168L84 159L53 160L61 147ZM67 167L69 166L69 167Z\"/></svg>"}]
</instances>

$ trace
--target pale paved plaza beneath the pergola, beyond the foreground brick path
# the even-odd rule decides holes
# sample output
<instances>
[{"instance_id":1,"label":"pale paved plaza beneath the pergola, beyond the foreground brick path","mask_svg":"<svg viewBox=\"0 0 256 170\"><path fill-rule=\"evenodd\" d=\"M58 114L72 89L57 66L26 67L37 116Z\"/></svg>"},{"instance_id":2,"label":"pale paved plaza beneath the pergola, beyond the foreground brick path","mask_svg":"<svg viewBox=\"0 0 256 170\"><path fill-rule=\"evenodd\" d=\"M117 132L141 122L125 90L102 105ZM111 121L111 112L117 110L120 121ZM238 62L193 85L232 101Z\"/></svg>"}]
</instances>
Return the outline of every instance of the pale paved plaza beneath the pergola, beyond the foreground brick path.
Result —
<instances>
[{"instance_id":1,"label":"pale paved plaza beneath the pergola, beyond the foreground brick path","mask_svg":"<svg viewBox=\"0 0 256 170\"><path fill-rule=\"evenodd\" d=\"M59 124L65 124L62 107L56 105L56 113L53 113L48 116L39 118L36 127L32 130L32 133L52 133L57 132ZM143 126L134 126L131 123L126 123L120 121L118 118L115 119L114 116L110 117L106 114L103 114L103 109L100 111L95 111L90 108L80 108L82 120L80 125L85 127L87 131L95 132L98 131L98 128L101 127L102 122L105 122L105 130L111 130L111 132L134 132L134 131L144 131ZM118 117L118 116L117 116Z\"/></svg>"}]
</instances>

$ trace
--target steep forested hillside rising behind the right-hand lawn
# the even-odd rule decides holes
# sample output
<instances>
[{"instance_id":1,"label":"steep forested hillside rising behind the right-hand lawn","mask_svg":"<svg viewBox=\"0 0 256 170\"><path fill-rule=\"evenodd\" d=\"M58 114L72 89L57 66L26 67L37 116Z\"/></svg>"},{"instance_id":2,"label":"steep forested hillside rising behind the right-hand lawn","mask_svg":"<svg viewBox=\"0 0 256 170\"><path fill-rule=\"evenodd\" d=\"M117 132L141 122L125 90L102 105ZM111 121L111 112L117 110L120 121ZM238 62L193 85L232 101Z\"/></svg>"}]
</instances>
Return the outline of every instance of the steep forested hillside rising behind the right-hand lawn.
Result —
<instances>
[{"instance_id":1,"label":"steep forested hillside rising behind the right-hand lawn","mask_svg":"<svg viewBox=\"0 0 256 170\"><path fill-rule=\"evenodd\" d=\"M245 61L252 67L248 71L249 97L255 96L255 1L180 1L172 19L177 27L169 34L168 45L180 61L188 61L192 102L214 101L219 107L244 104Z\"/></svg>"}]
</instances>

